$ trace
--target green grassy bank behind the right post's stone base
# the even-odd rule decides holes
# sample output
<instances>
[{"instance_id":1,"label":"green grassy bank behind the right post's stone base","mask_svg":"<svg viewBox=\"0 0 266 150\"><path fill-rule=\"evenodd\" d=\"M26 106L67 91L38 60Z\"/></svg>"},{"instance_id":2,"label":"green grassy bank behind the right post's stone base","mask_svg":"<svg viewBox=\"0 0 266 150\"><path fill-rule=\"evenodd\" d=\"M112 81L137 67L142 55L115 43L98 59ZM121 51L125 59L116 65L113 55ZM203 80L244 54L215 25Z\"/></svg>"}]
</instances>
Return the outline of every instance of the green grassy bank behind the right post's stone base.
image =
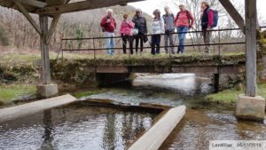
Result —
<instances>
[{"instance_id":1,"label":"green grassy bank behind the right post's stone base","mask_svg":"<svg viewBox=\"0 0 266 150\"><path fill-rule=\"evenodd\" d=\"M245 91L238 90L226 90L215 94L207 95L206 99L209 102L223 104L223 105L235 105L239 94L245 93ZM257 95L266 99L266 83L258 85Z\"/></svg>"}]
</instances>

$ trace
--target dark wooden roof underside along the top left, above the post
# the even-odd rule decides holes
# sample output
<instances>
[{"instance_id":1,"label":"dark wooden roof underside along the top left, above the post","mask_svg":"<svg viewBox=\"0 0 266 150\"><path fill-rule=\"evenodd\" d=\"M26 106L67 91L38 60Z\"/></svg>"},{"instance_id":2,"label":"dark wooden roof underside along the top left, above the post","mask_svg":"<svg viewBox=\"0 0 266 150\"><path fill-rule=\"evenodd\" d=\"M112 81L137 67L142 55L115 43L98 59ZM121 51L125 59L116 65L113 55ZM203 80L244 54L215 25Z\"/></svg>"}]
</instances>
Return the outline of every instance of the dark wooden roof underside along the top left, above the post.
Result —
<instances>
[{"instance_id":1,"label":"dark wooden roof underside along the top left, above the post","mask_svg":"<svg viewBox=\"0 0 266 150\"><path fill-rule=\"evenodd\" d=\"M74 0L73 0L74 1ZM97 9L113 5L126 5L132 2L143 0L0 0L0 5L15 10L20 10L16 3L24 6L27 12L36 14L55 15L67 12L79 12L84 10Z\"/></svg>"}]
</instances>

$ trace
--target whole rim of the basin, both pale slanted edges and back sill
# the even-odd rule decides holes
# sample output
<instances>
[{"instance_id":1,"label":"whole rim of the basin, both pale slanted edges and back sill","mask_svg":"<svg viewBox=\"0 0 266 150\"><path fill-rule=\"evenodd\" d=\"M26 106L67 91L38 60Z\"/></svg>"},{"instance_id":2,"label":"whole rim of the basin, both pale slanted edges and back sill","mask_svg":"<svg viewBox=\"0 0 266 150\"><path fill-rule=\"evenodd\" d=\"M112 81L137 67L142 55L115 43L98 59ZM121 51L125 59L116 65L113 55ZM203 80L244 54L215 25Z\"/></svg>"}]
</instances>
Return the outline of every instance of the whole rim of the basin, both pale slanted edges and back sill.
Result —
<instances>
[{"instance_id":1,"label":"whole rim of the basin, both pale slanted edges and back sill","mask_svg":"<svg viewBox=\"0 0 266 150\"><path fill-rule=\"evenodd\" d=\"M35 114L45 109L51 109L53 107L60 107L70 103L78 102L80 100L75 99L73 96L67 94L51 99L43 99L17 107L7 107L0 109L0 122L12 121L22 116ZM168 138L168 135L176 128L178 122L182 120L185 114L185 106L181 107L166 107L153 104L140 104L140 106L128 106L122 104L114 104L113 100L101 100L101 99L90 99L82 100L84 104L86 102L90 104L97 104L98 106L112 106L112 107L123 107L125 109L145 109L147 111L158 111L160 114L157 115L153 122L153 126L147 130L137 141L129 146L129 150L157 150L161 144Z\"/></svg>"}]
</instances>

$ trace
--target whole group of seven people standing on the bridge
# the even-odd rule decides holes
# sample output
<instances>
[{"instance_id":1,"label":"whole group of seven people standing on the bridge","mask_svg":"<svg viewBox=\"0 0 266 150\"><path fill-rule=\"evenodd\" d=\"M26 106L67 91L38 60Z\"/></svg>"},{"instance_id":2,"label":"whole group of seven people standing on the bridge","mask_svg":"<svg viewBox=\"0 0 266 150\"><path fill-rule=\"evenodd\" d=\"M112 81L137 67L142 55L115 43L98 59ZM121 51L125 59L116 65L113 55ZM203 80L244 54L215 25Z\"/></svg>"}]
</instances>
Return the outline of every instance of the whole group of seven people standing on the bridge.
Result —
<instances>
[{"instance_id":1,"label":"whole group of seven people standing on the bridge","mask_svg":"<svg viewBox=\"0 0 266 150\"><path fill-rule=\"evenodd\" d=\"M129 43L129 51L133 54L133 42L136 41L136 53L139 50L142 52L144 43L151 43L151 53L153 55L160 53L160 36L164 35L165 51L172 54L184 54L184 39L190 28L193 28L194 18L192 12L185 9L184 4L179 5L179 12L176 16L170 11L169 7L164 8L165 14L161 15L160 10L156 9L153 12L154 18L152 22L152 39L151 41L146 36L148 33L147 21L142 16L141 9L136 10L132 20L129 20L129 15L125 13L121 22L119 33L122 39L123 53L127 53L127 43ZM209 52L209 44L211 30L214 27L214 11L210 9L207 2L201 3L201 28L204 43L206 44L205 52ZM116 21L113 18L113 10L108 9L106 16L101 20L101 28L106 37L106 53L113 55L114 52L114 31L116 30ZM177 31L179 44L175 51L175 42L173 34ZM168 44L169 43L169 44Z\"/></svg>"}]
</instances>

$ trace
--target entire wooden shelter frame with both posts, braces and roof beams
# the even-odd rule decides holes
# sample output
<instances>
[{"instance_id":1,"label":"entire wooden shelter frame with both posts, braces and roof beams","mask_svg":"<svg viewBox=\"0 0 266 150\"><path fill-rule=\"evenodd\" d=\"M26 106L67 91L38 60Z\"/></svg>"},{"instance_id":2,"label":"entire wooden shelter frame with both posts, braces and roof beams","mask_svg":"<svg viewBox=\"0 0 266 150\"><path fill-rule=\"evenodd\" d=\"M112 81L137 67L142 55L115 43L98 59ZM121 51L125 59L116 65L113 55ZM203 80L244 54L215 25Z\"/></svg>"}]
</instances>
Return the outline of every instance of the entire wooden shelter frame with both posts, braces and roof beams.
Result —
<instances>
[{"instance_id":1,"label":"entire wooden shelter frame with both posts, braces and roof beams","mask_svg":"<svg viewBox=\"0 0 266 150\"><path fill-rule=\"evenodd\" d=\"M126 5L138 1L143 0L83 0L78 2L72 2L71 0L0 0L0 5L23 13L41 36L43 83L50 84L49 43L61 14L117 4ZM256 95L256 0L245 0L245 21L230 0L219 1L242 32L246 34L246 96L254 97ZM39 15L39 25L29 13ZM48 28L48 17L53 18L50 28Z\"/></svg>"}]
</instances>

